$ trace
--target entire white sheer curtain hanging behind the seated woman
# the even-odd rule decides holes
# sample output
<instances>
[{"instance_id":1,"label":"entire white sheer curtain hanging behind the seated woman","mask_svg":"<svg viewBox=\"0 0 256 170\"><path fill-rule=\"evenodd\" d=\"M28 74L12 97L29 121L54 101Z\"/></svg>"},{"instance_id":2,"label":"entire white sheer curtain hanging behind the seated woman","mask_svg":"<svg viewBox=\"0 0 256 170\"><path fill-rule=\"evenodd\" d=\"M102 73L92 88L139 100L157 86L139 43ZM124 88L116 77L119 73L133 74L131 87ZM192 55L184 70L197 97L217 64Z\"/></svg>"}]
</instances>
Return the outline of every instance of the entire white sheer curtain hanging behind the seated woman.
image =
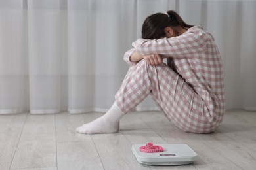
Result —
<instances>
[{"instance_id":1,"label":"entire white sheer curtain hanging behind the seated woman","mask_svg":"<svg viewBox=\"0 0 256 170\"><path fill-rule=\"evenodd\" d=\"M0 0L0 114L104 112L146 16L176 10L211 32L226 109L256 110L256 1ZM157 110L148 97L137 110Z\"/></svg>"}]
</instances>

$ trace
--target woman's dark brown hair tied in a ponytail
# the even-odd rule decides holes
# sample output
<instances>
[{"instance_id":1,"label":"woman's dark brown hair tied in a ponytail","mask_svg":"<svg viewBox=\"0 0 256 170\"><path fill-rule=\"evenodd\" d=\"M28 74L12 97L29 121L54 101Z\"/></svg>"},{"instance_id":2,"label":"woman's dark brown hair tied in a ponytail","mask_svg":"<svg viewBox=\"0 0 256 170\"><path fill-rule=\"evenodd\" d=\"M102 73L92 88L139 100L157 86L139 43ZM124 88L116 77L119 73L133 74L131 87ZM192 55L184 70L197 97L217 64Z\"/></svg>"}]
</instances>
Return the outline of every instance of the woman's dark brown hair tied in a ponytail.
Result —
<instances>
[{"instance_id":1,"label":"woman's dark brown hair tied in a ponytail","mask_svg":"<svg viewBox=\"0 0 256 170\"><path fill-rule=\"evenodd\" d=\"M142 39L160 39L165 37L165 27L181 26L183 29L193 27L184 22L173 10L169 10L165 14L156 13L148 16L142 25Z\"/></svg>"}]
</instances>

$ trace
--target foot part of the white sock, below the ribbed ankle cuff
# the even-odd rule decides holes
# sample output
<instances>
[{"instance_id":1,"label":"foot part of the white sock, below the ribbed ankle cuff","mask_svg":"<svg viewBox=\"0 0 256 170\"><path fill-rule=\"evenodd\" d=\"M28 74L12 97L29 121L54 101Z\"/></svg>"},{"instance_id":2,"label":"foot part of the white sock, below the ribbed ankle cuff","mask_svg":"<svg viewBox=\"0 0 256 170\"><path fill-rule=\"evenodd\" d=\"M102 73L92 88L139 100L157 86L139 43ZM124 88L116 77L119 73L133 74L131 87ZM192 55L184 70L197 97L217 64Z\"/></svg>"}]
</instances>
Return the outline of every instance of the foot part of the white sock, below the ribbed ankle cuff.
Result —
<instances>
[{"instance_id":1,"label":"foot part of the white sock, below the ribbed ankle cuff","mask_svg":"<svg viewBox=\"0 0 256 170\"><path fill-rule=\"evenodd\" d=\"M119 121L112 122L108 116L104 115L89 124L78 127L76 131L85 134L116 133L119 131Z\"/></svg>"}]
</instances>

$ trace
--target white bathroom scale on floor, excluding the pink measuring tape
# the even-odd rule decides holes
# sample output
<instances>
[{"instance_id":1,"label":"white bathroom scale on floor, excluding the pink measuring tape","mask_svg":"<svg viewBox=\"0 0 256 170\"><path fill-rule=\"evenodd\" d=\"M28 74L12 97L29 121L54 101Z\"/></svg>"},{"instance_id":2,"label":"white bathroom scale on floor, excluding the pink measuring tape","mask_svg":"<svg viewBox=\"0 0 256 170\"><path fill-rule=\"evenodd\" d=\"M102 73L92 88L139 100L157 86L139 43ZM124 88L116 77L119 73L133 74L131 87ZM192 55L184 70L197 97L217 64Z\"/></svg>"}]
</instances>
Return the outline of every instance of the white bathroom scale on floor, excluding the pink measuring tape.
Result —
<instances>
[{"instance_id":1,"label":"white bathroom scale on floor, excluding the pink measuring tape","mask_svg":"<svg viewBox=\"0 0 256 170\"><path fill-rule=\"evenodd\" d=\"M156 144L163 148L163 152L140 152L143 144L132 146L137 161L146 165L187 165L197 160L198 154L187 144Z\"/></svg>"}]
</instances>

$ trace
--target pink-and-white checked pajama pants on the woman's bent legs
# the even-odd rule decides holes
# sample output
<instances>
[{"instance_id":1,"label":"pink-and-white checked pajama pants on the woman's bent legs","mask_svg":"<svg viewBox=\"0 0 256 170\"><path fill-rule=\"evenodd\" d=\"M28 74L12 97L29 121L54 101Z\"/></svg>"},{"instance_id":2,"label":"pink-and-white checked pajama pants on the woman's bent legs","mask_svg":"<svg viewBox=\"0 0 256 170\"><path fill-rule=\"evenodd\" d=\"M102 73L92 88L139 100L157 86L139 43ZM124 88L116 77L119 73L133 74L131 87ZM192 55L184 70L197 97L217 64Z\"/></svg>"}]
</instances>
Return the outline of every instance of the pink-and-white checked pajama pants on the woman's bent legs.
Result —
<instances>
[{"instance_id":1,"label":"pink-and-white checked pajama pants on the woman's bent legs","mask_svg":"<svg viewBox=\"0 0 256 170\"><path fill-rule=\"evenodd\" d=\"M149 94L179 129L192 133L215 130L216 126L206 117L209 111L202 98L177 73L165 63L148 65L142 59L129 68L116 93L116 103L121 111L127 113Z\"/></svg>"}]
</instances>

